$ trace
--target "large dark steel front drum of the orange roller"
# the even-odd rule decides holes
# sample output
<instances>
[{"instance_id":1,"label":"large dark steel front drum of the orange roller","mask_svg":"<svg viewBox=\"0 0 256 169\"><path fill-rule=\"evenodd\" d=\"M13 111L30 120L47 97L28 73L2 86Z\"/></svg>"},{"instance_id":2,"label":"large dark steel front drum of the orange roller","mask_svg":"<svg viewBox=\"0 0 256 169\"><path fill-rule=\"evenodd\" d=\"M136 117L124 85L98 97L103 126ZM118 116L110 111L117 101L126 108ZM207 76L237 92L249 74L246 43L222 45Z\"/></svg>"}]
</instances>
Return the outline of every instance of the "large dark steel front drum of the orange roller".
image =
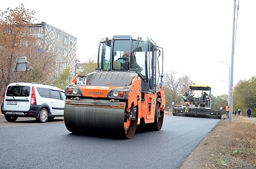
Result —
<instances>
[{"instance_id":1,"label":"large dark steel front drum of the orange roller","mask_svg":"<svg viewBox=\"0 0 256 169\"><path fill-rule=\"evenodd\" d=\"M90 133L130 139L136 131L138 114L132 120L125 109L65 104L64 121L72 133Z\"/></svg>"}]
</instances>

